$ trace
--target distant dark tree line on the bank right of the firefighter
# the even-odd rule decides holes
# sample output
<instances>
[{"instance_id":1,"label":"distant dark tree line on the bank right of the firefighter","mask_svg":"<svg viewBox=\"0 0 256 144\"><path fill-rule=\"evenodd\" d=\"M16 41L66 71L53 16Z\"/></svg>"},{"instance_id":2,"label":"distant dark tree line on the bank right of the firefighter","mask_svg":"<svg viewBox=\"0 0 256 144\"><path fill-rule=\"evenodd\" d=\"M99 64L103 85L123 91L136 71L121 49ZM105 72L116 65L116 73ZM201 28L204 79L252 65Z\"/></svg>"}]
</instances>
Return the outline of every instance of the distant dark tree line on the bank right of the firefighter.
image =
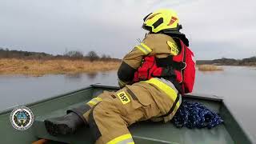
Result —
<instances>
[{"instance_id":1,"label":"distant dark tree line on the bank right of the firefighter","mask_svg":"<svg viewBox=\"0 0 256 144\"><path fill-rule=\"evenodd\" d=\"M250 58L234 59L234 58L220 58L214 60L198 60L198 65L216 64L226 66L256 66L256 56Z\"/></svg>"}]
</instances>

